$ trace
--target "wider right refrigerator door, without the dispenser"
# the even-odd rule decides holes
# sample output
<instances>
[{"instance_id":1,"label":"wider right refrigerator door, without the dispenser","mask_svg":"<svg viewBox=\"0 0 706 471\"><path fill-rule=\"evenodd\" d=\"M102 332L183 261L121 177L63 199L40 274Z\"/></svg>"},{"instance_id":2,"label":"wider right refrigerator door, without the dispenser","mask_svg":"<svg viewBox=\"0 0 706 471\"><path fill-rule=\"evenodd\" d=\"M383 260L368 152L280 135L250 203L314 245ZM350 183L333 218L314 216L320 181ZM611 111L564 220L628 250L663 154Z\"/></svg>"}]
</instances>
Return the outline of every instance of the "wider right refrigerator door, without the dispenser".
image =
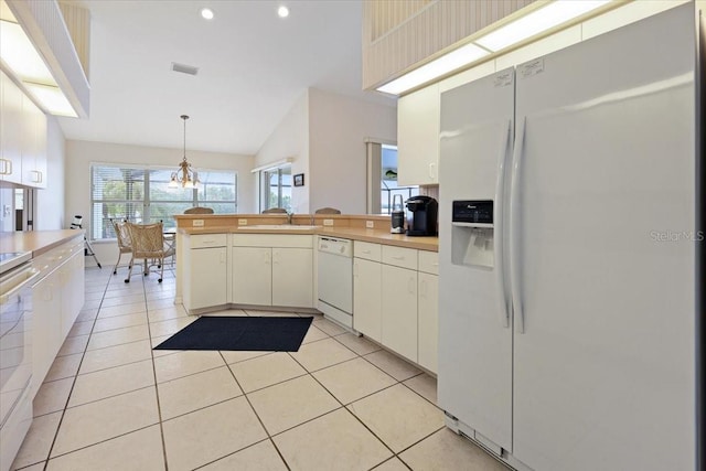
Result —
<instances>
[{"instance_id":1,"label":"wider right refrigerator door, without the dispenser","mask_svg":"<svg viewBox=\"0 0 706 471\"><path fill-rule=\"evenodd\" d=\"M695 469L693 9L517 68L513 456L533 469Z\"/></svg>"}]
</instances>

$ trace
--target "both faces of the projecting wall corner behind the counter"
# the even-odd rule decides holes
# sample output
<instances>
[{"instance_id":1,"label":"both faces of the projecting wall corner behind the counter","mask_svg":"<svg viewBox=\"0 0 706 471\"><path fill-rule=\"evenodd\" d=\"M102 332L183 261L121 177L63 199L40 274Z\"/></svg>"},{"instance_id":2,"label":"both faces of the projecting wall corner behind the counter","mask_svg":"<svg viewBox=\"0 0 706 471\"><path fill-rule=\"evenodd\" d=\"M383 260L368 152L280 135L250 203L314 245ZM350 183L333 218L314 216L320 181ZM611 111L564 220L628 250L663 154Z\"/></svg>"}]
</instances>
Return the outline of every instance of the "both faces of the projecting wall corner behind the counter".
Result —
<instances>
[{"instance_id":1,"label":"both faces of the projecting wall corner behind the counter","mask_svg":"<svg viewBox=\"0 0 706 471\"><path fill-rule=\"evenodd\" d=\"M367 137L397 140L396 107L309 88L259 150L255 167L295 159L292 174L304 174L304 186L292 190L295 213L332 206L364 214Z\"/></svg>"}]
</instances>

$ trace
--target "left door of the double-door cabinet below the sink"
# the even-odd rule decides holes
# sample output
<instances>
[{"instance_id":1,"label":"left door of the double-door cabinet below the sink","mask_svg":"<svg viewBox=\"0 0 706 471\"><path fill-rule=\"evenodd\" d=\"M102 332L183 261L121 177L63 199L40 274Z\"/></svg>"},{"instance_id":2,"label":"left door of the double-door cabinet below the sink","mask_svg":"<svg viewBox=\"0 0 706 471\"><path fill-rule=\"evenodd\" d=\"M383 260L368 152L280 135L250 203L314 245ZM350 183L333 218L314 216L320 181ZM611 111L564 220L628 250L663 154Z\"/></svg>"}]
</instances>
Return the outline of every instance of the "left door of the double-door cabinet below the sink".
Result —
<instances>
[{"instance_id":1,"label":"left door of the double-door cabinet below the sink","mask_svg":"<svg viewBox=\"0 0 706 471\"><path fill-rule=\"evenodd\" d=\"M271 248L233 247L233 302L272 306Z\"/></svg>"}]
</instances>

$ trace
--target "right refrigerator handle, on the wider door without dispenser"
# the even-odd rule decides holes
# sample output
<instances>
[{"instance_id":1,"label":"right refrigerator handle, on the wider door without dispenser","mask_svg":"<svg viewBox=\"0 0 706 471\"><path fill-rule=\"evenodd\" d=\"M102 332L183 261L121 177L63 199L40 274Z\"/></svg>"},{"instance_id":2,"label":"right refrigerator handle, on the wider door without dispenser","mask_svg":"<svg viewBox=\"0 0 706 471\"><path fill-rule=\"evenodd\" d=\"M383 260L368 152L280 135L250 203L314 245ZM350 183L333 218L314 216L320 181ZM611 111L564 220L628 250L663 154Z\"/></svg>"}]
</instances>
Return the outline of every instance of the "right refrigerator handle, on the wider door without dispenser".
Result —
<instances>
[{"instance_id":1,"label":"right refrigerator handle, on the wider door without dispenser","mask_svg":"<svg viewBox=\"0 0 706 471\"><path fill-rule=\"evenodd\" d=\"M517 133L515 137L515 149L512 153L512 180L510 183L510 286L512 292L512 310L514 313L517 333L525 333L525 318L522 312L522 301L520 299L520 227L518 227L518 205L520 205L520 170L522 164L522 152L525 143L526 118L517 120Z\"/></svg>"}]
</instances>

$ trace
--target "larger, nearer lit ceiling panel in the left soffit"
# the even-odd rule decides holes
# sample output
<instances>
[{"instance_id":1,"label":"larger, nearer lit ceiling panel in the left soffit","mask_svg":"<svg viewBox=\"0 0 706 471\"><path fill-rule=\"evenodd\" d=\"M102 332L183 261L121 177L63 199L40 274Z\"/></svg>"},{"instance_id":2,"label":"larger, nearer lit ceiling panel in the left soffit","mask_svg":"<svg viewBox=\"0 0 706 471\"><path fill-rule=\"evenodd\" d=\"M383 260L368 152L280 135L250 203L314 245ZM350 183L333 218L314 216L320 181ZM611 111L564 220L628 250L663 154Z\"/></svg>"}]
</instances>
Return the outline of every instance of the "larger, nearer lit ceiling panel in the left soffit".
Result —
<instances>
[{"instance_id":1,"label":"larger, nearer lit ceiling panel in the left soffit","mask_svg":"<svg viewBox=\"0 0 706 471\"><path fill-rule=\"evenodd\" d=\"M0 57L22 81L56 85L44 60L18 23L0 21Z\"/></svg>"}]
</instances>

